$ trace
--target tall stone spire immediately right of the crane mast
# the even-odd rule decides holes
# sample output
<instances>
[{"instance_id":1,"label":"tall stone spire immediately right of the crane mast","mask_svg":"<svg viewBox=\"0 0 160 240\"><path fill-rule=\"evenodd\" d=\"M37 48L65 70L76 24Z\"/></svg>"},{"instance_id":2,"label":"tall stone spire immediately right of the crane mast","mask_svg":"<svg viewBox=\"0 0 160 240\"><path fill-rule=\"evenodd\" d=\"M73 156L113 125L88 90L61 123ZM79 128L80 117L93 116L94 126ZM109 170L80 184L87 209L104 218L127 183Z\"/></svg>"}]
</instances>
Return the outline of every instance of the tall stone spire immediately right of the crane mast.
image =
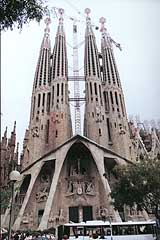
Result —
<instances>
[{"instance_id":1,"label":"tall stone spire immediately right of the crane mast","mask_svg":"<svg viewBox=\"0 0 160 240\"><path fill-rule=\"evenodd\" d=\"M84 135L93 141L106 147L107 130L105 122L102 81L100 63L95 36L92 31L90 9L85 9L86 32L85 32L85 85L86 104L84 116ZM93 131L94 129L94 131Z\"/></svg>"}]
</instances>

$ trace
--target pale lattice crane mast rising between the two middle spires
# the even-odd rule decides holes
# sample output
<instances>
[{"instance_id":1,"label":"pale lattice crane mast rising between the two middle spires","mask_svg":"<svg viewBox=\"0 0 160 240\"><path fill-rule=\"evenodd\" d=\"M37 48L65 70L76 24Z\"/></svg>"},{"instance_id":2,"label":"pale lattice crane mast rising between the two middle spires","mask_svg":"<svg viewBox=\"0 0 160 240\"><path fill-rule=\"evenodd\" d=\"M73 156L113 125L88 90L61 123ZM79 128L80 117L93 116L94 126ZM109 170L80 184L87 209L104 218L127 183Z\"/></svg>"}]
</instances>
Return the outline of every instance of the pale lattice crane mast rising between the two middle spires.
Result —
<instances>
[{"instance_id":1,"label":"pale lattice crane mast rising between the two middle spires","mask_svg":"<svg viewBox=\"0 0 160 240\"><path fill-rule=\"evenodd\" d=\"M79 69L78 69L78 41L77 25L73 22L73 77L74 77L74 111L75 111L75 134L81 134L81 112L80 112L80 91L79 91Z\"/></svg>"}]
</instances>

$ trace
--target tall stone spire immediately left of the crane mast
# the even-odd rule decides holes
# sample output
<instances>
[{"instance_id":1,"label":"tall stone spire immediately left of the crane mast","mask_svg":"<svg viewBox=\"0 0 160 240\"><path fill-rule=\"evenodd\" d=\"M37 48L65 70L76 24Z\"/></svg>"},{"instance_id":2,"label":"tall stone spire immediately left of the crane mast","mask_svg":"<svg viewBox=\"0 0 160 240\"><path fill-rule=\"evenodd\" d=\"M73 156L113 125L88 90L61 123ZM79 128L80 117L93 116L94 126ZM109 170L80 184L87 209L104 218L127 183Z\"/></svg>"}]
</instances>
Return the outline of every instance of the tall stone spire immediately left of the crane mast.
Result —
<instances>
[{"instance_id":1,"label":"tall stone spire immediately left of the crane mast","mask_svg":"<svg viewBox=\"0 0 160 240\"><path fill-rule=\"evenodd\" d=\"M51 110L50 119L48 120L48 144L50 149L54 149L72 136L63 13L64 10L59 9L59 25L52 55Z\"/></svg>"}]
</instances>

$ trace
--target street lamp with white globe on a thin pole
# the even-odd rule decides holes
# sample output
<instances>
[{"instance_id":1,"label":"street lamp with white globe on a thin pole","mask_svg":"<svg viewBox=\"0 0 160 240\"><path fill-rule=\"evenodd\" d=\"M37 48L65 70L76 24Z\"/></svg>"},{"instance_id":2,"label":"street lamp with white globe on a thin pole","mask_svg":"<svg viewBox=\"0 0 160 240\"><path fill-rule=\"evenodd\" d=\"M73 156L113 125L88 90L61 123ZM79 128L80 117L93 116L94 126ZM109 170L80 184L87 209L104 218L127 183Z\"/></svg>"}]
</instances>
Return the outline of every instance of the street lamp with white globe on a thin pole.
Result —
<instances>
[{"instance_id":1,"label":"street lamp with white globe on a thin pole","mask_svg":"<svg viewBox=\"0 0 160 240\"><path fill-rule=\"evenodd\" d=\"M13 201L14 201L14 184L17 181L20 181L21 174L17 170L13 170L9 179L11 182L11 206L10 206L10 217L9 217L9 227L8 227L8 240L11 240L11 227L12 227L12 210L13 210Z\"/></svg>"}]
</instances>

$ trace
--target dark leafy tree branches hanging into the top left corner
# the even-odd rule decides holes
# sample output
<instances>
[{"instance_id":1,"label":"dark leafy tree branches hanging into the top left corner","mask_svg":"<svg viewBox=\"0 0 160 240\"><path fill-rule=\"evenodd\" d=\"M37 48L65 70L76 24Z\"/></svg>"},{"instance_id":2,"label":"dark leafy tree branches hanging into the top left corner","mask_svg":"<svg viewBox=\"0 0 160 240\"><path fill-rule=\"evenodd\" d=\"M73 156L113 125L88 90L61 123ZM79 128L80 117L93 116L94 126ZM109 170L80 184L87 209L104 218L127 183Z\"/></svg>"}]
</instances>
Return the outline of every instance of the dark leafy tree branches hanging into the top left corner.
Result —
<instances>
[{"instance_id":1,"label":"dark leafy tree branches hanging into the top left corner","mask_svg":"<svg viewBox=\"0 0 160 240\"><path fill-rule=\"evenodd\" d=\"M40 22L46 11L43 0L3 0L0 4L1 30L13 30L15 25L21 29L30 20Z\"/></svg>"}]
</instances>

